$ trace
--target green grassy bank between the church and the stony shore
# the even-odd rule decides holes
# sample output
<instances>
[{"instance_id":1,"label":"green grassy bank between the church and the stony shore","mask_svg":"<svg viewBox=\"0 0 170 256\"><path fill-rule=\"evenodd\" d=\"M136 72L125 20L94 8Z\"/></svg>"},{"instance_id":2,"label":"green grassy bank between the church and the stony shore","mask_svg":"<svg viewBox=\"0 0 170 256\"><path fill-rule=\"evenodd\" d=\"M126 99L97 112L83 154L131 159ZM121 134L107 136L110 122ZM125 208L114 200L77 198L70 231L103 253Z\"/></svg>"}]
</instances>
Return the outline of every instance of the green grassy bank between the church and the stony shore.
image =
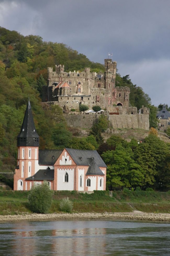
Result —
<instances>
[{"instance_id":1,"label":"green grassy bank between the church and the stony shore","mask_svg":"<svg viewBox=\"0 0 170 256\"><path fill-rule=\"evenodd\" d=\"M0 215L32 213L27 196L29 191L0 191ZM155 191L94 191L93 194L76 191L55 191L49 213L59 213L63 197L73 201L73 212L131 212L170 213L170 194Z\"/></svg>"}]
</instances>

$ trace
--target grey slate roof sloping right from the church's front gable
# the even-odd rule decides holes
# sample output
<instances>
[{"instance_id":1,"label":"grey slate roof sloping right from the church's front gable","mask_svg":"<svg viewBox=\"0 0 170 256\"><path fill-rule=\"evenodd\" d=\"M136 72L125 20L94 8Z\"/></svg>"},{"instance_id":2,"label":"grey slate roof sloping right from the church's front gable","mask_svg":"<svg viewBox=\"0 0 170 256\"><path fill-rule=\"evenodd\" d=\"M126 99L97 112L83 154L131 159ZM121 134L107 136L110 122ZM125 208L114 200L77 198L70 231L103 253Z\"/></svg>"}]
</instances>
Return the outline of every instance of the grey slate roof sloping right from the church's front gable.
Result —
<instances>
[{"instance_id":1,"label":"grey slate roof sloping right from the church's front gable","mask_svg":"<svg viewBox=\"0 0 170 256\"><path fill-rule=\"evenodd\" d=\"M66 150L77 165L90 165L91 158L93 158L98 166L107 167L96 150L81 150L71 148L66 148Z\"/></svg>"}]
</instances>

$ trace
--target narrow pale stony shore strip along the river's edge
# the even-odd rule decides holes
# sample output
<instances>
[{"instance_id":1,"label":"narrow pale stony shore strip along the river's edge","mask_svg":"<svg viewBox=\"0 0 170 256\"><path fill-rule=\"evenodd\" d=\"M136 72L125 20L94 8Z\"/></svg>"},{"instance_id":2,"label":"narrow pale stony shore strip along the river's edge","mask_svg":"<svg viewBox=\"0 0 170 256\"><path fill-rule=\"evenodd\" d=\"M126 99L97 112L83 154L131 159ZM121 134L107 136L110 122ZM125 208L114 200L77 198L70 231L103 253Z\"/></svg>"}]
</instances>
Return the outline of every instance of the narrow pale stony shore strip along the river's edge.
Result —
<instances>
[{"instance_id":1,"label":"narrow pale stony shore strip along the river's edge","mask_svg":"<svg viewBox=\"0 0 170 256\"><path fill-rule=\"evenodd\" d=\"M43 220L146 220L146 221L170 221L169 213L145 213L140 211L117 213L52 213L52 214L23 214L0 215L0 222L16 221L43 221Z\"/></svg>"}]
</instances>

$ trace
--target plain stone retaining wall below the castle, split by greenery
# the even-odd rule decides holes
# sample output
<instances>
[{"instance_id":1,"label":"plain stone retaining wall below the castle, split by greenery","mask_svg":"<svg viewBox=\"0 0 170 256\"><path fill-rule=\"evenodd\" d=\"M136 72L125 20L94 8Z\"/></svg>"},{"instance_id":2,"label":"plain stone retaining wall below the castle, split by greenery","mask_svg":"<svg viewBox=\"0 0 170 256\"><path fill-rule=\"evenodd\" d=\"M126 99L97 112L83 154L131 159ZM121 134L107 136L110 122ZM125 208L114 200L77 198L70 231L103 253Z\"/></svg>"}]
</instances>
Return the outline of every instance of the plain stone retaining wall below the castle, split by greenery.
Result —
<instances>
[{"instance_id":1,"label":"plain stone retaining wall below the castle, split by greenery","mask_svg":"<svg viewBox=\"0 0 170 256\"><path fill-rule=\"evenodd\" d=\"M97 118L100 114L97 114ZM95 114L67 115L67 125L70 127L79 127L90 129L96 120ZM149 130L149 115L109 115L109 121L114 129L117 128L139 128Z\"/></svg>"}]
</instances>

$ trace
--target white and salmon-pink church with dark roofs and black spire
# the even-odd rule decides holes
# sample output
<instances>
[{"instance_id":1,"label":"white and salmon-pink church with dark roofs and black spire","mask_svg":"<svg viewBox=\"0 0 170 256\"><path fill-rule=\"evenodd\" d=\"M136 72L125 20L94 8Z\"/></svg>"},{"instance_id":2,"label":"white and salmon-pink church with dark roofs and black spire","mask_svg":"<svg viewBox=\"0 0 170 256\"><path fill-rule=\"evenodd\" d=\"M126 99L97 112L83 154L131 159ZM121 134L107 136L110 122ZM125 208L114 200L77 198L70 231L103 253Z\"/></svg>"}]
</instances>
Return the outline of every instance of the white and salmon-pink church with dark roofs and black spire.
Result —
<instances>
[{"instance_id":1,"label":"white and salmon-pink church with dark roofs and black spire","mask_svg":"<svg viewBox=\"0 0 170 256\"><path fill-rule=\"evenodd\" d=\"M27 104L17 137L18 158L14 190L30 190L48 182L51 190L93 191L106 189L106 164L96 150L39 150L31 104Z\"/></svg>"}]
</instances>

